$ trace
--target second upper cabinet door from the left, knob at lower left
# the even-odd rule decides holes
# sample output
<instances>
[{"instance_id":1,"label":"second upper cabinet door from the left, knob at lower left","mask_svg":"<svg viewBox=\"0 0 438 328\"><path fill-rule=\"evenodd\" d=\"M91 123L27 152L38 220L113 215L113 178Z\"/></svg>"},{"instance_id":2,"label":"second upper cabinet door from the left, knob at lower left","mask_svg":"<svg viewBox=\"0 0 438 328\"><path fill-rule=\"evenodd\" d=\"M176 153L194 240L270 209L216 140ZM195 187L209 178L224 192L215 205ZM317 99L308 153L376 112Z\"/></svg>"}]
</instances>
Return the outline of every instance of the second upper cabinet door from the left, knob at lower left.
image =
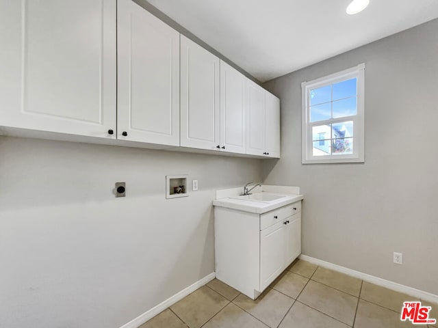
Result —
<instances>
[{"instance_id":1,"label":"second upper cabinet door from the left, knob at lower left","mask_svg":"<svg viewBox=\"0 0 438 328\"><path fill-rule=\"evenodd\" d=\"M179 33L118 0L117 138L179 146Z\"/></svg>"}]
</instances>

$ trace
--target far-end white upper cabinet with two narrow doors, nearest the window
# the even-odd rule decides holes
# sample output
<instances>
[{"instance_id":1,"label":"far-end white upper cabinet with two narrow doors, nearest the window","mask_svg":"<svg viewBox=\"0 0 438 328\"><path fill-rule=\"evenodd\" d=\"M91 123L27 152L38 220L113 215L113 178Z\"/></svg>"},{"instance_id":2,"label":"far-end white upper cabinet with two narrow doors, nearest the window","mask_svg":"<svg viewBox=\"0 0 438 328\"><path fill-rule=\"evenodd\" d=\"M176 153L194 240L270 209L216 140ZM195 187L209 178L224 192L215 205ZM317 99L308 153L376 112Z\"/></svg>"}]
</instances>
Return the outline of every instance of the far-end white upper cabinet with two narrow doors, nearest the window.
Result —
<instances>
[{"instance_id":1,"label":"far-end white upper cabinet with two narrow doors, nearest the window","mask_svg":"<svg viewBox=\"0 0 438 328\"><path fill-rule=\"evenodd\" d=\"M280 157L280 100L246 81L246 154Z\"/></svg>"}]
</instances>

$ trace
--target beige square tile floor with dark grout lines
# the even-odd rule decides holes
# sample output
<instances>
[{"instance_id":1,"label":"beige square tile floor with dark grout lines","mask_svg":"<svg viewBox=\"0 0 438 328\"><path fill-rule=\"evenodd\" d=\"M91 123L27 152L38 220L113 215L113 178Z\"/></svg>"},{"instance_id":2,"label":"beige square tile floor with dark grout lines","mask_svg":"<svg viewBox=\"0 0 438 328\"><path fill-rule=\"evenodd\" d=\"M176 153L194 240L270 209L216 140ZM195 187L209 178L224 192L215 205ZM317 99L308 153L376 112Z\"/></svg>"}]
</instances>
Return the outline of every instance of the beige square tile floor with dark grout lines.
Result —
<instances>
[{"instance_id":1,"label":"beige square tile floor with dark grout lines","mask_svg":"<svg viewBox=\"0 0 438 328\"><path fill-rule=\"evenodd\" d=\"M408 300L415 297L296 260L255 301L214 279L139 328L426 327L400 321ZM438 318L438 304L424 303Z\"/></svg>"}]
</instances>

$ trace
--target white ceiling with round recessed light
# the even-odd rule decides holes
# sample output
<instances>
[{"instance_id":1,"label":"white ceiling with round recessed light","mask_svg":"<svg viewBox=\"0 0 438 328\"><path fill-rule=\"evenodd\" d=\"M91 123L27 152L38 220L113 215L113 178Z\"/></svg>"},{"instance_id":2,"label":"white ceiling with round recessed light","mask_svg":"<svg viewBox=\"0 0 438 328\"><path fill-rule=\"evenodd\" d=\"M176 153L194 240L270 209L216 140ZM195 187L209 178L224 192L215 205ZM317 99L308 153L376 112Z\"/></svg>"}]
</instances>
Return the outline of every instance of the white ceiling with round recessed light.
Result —
<instances>
[{"instance_id":1,"label":"white ceiling with round recessed light","mask_svg":"<svg viewBox=\"0 0 438 328\"><path fill-rule=\"evenodd\" d=\"M438 17L438 0L148 0L259 81ZM438 31L437 31L438 33Z\"/></svg>"}]
</instances>

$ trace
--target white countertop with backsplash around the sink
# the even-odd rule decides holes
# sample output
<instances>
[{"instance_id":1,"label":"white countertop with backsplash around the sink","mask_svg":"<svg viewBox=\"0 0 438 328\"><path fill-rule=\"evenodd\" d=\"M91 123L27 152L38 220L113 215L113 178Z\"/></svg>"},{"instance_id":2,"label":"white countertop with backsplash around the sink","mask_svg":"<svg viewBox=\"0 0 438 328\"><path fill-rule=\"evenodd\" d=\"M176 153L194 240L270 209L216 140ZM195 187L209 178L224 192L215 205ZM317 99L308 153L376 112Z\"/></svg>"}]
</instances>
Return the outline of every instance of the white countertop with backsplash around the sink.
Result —
<instances>
[{"instance_id":1,"label":"white countertop with backsplash around the sink","mask_svg":"<svg viewBox=\"0 0 438 328\"><path fill-rule=\"evenodd\" d=\"M277 190L281 191L281 193L276 193L275 191ZM280 208L281 206L298 202L299 200L302 200L304 198L303 195L299 194L299 188L297 187L261 186L254 189L254 191L256 191L255 193L269 193L270 195L279 195L283 197L279 198L279 200L272 200L270 202L235 199L236 196L238 196L242 192L242 188L235 188L227 189L225 191L217 191L216 197L219 196L220 198L214 200L213 205L218 207L231 208L233 210L242 210L249 213L263 214L269 212L270 210ZM287 193L287 191L298 191L298 193Z\"/></svg>"}]
</instances>

